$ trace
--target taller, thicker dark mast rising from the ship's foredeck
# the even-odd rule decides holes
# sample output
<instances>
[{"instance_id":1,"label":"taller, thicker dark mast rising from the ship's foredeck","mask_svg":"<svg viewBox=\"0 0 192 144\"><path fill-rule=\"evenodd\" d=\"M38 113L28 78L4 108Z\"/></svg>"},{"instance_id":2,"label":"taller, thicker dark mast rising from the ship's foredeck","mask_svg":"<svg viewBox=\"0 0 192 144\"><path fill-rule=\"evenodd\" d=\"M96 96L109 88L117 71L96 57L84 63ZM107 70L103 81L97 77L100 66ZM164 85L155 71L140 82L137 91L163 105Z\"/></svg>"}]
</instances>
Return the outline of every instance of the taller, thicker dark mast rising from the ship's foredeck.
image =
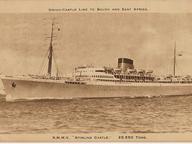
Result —
<instances>
[{"instance_id":1,"label":"taller, thicker dark mast rising from the ship's foredeck","mask_svg":"<svg viewBox=\"0 0 192 144\"><path fill-rule=\"evenodd\" d=\"M48 55L48 76L51 77L51 70L52 70L52 59L53 59L53 26L54 22L52 22L52 28L51 28L51 40L49 45L49 55Z\"/></svg>"}]
</instances>

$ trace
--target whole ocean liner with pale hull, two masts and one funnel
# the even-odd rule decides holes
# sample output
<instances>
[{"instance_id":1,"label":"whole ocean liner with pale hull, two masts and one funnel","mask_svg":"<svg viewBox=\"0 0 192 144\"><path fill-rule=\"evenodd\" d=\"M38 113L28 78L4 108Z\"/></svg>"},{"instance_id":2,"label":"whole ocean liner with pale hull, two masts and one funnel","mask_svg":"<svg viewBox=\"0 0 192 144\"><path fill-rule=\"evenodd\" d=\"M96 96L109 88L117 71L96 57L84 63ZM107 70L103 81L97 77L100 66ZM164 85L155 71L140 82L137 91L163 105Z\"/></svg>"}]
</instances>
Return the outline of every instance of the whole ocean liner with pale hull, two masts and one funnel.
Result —
<instances>
[{"instance_id":1,"label":"whole ocean liner with pale hull, two masts and one funnel","mask_svg":"<svg viewBox=\"0 0 192 144\"><path fill-rule=\"evenodd\" d=\"M50 36L46 75L2 76L6 99L73 99L110 97L160 97L192 94L192 77L176 76L176 47L173 75L157 76L152 70L134 68L134 61L118 58L117 67L79 66L73 76L52 75L53 31Z\"/></svg>"}]
</instances>

